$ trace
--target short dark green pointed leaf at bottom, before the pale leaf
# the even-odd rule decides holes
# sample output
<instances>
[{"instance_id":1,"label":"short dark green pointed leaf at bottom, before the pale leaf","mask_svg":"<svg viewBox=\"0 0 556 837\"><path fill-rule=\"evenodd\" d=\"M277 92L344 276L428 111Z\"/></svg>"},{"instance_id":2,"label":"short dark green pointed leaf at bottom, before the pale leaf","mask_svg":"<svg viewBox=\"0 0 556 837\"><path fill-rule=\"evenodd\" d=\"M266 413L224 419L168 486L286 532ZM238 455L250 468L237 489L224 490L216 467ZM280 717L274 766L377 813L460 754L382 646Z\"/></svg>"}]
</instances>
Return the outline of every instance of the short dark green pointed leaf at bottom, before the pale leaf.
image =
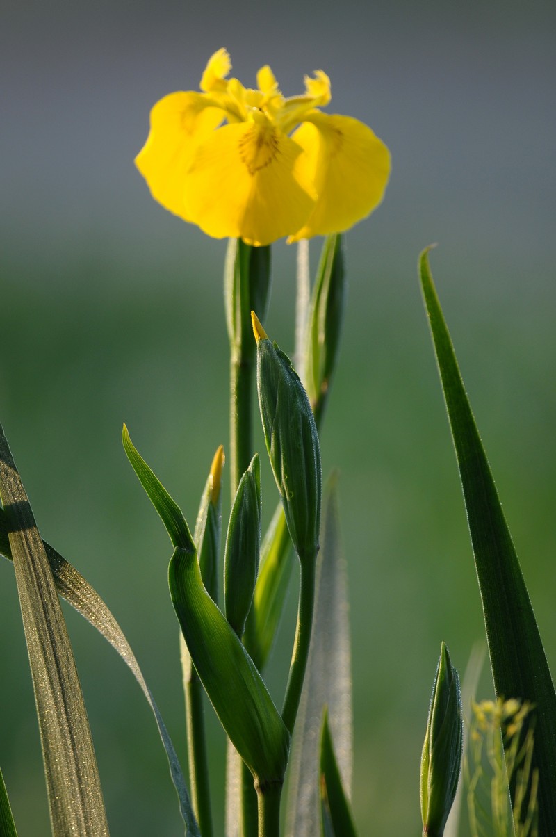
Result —
<instances>
[{"instance_id":1,"label":"short dark green pointed leaf at bottom, before the pale leaf","mask_svg":"<svg viewBox=\"0 0 556 837\"><path fill-rule=\"evenodd\" d=\"M322 718L320 765L323 834L325 837L328 837L328 834L334 837L356 837L352 812L337 767L326 709Z\"/></svg>"}]
</instances>

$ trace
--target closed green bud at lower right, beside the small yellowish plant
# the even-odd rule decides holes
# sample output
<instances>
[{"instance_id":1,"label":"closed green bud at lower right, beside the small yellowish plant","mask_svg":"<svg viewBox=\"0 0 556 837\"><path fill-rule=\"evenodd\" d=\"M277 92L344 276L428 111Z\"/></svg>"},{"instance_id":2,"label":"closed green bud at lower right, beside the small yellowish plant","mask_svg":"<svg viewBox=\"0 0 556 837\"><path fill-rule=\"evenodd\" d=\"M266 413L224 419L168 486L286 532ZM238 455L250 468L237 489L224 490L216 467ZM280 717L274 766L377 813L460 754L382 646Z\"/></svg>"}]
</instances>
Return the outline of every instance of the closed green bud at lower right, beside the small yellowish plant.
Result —
<instances>
[{"instance_id":1,"label":"closed green bud at lower right, beside the small yellowish plant","mask_svg":"<svg viewBox=\"0 0 556 837\"><path fill-rule=\"evenodd\" d=\"M421 755L421 816L425 837L442 837L461 771L463 712L460 678L440 648Z\"/></svg>"}]
</instances>

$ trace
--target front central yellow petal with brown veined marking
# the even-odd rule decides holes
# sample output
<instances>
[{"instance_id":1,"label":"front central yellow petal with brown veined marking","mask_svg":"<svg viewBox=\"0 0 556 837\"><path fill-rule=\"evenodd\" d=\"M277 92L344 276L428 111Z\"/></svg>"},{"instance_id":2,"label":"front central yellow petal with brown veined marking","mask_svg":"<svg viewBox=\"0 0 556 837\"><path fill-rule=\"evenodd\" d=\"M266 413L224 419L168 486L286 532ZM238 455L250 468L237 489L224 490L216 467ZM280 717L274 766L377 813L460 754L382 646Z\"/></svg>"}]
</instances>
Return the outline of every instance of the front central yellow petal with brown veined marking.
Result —
<instances>
[{"instance_id":1,"label":"front central yellow petal with brown veined marking","mask_svg":"<svg viewBox=\"0 0 556 837\"><path fill-rule=\"evenodd\" d=\"M314 206L301 149L261 114L256 118L214 131L186 177L188 216L215 239L270 244L296 232Z\"/></svg>"}]
</instances>

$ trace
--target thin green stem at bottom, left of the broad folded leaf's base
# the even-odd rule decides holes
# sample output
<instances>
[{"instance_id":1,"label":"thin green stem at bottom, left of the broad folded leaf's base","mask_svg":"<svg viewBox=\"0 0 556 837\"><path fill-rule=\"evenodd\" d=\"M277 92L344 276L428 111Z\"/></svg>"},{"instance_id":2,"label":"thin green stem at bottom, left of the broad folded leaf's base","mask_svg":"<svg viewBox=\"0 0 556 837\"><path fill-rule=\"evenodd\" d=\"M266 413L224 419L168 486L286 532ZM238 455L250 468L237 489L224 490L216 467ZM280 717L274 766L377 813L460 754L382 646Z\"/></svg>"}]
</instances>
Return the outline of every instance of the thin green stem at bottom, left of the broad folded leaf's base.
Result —
<instances>
[{"instance_id":1,"label":"thin green stem at bottom, left of the broad folded leaf's base","mask_svg":"<svg viewBox=\"0 0 556 837\"><path fill-rule=\"evenodd\" d=\"M203 837L213 837L210 810L209 763L204 735L203 685L191 665L191 675L184 678L186 721L188 729L189 782L193 810Z\"/></svg>"}]
</instances>

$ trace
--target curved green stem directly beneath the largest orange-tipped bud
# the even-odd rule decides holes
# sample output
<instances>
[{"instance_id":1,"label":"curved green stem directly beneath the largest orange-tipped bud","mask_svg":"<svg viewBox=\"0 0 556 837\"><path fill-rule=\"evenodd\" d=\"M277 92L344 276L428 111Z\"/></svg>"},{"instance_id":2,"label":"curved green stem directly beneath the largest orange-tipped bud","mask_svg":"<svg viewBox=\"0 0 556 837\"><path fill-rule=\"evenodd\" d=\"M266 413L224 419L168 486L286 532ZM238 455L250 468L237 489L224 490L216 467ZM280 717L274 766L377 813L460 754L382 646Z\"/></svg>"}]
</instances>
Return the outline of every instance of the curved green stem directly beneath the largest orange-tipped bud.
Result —
<instances>
[{"instance_id":1,"label":"curved green stem directly beneath the largest orange-tipped bud","mask_svg":"<svg viewBox=\"0 0 556 837\"><path fill-rule=\"evenodd\" d=\"M297 709L301 699L301 689L305 679L309 644L311 642L312 617L315 606L315 567L317 552L310 558L301 561L301 578L299 587L299 605L297 608L296 639L291 655L290 675L286 686L286 696L282 709L282 721L286 729L293 733L296 723Z\"/></svg>"}]
</instances>

